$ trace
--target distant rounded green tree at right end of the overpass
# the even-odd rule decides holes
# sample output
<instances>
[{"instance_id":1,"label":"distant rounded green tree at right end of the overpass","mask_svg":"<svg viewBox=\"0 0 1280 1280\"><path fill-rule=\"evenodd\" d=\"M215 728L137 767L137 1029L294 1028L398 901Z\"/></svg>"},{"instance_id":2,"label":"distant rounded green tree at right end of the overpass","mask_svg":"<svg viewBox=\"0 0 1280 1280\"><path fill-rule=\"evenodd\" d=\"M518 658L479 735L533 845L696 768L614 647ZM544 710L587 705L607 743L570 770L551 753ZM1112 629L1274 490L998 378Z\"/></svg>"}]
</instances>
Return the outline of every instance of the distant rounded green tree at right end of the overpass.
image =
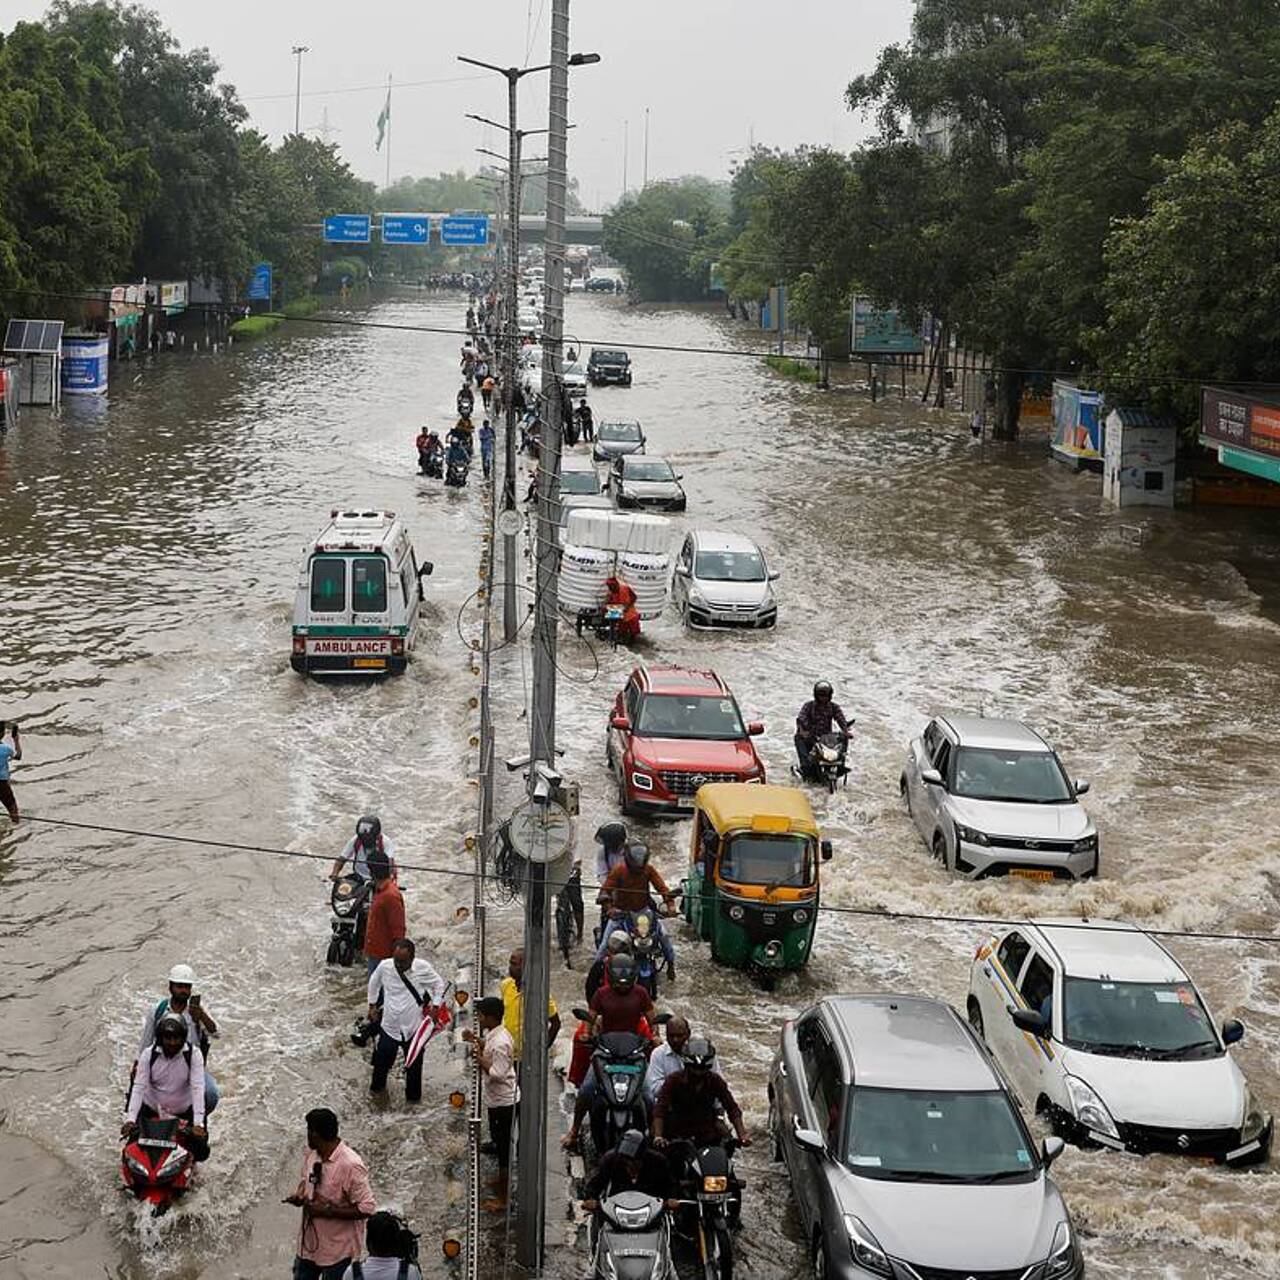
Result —
<instances>
[{"instance_id":1,"label":"distant rounded green tree at right end of the overpass","mask_svg":"<svg viewBox=\"0 0 1280 1280\"><path fill-rule=\"evenodd\" d=\"M727 211L723 183L653 182L604 215L604 250L626 268L637 297L698 301L707 297L712 262L726 242Z\"/></svg>"}]
</instances>

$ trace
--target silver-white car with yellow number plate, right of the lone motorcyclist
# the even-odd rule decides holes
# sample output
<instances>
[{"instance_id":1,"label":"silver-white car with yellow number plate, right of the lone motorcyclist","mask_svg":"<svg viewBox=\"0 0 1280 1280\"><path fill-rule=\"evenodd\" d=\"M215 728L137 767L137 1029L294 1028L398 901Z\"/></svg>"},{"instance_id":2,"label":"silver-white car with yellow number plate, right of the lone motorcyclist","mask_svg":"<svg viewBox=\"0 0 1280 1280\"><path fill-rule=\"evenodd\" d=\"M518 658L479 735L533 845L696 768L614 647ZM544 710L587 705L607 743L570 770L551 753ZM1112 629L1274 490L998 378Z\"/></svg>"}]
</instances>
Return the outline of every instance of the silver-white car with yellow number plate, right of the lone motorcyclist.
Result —
<instances>
[{"instance_id":1,"label":"silver-white car with yellow number plate, right of the lone motorcyclist","mask_svg":"<svg viewBox=\"0 0 1280 1280\"><path fill-rule=\"evenodd\" d=\"M1083 879L1098 873L1098 831L1057 754L1018 721L937 716L899 780L933 856L968 879Z\"/></svg>"}]
</instances>

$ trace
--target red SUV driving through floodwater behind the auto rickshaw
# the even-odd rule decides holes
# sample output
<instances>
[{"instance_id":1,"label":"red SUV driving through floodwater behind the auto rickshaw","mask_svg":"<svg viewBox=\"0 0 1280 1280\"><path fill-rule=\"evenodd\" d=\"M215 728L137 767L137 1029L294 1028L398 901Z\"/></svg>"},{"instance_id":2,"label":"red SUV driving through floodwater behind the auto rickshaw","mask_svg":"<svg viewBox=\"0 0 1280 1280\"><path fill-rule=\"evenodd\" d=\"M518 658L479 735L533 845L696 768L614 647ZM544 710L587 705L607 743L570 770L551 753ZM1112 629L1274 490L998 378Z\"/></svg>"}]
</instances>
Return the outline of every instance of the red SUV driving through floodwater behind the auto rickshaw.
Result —
<instances>
[{"instance_id":1,"label":"red SUV driving through floodwater behind the auto rickshaw","mask_svg":"<svg viewBox=\"0 0 1280 1280\"><path fill-rule=\"evenodd\" d=\"M613 703L605 753L625 814L692 809L705 782L763 782L764 765L728 685L713 671L637 667Z\"/></svg>"}]
</instances>

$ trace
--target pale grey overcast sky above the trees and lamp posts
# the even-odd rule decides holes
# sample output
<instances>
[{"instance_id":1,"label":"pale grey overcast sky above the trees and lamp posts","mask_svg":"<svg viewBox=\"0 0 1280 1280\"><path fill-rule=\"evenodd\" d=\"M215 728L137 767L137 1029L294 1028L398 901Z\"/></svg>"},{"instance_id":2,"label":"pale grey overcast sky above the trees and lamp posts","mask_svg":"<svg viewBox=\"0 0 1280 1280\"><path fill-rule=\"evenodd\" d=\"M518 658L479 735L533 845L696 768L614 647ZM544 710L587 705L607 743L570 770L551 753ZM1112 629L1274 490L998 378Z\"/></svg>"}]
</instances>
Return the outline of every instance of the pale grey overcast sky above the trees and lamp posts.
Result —
<instances>
[{"instance_id":1,"label":"pale grey overcast sky above the trees and lamp posts","mask_svg":"<svg viewBox=\"0 0 1280 1280\"><path fill-rule=\"evenodd\" d=\"M294 45L302 61L302 129L325 120L348 164L381 183L385 151L375 119L392 97L392 178L474 170L475 147L504 150L504 134L463 119L506 115L506 82L456 61L545 63L550 0L157 0L184 47L205 45L236 86L256 128L293 128ZM867 122L842 102L849 79L908 35L911 0L573 0L570 49L602 61L570 73L570 173L595 209L618 197L625 122L628 183L649 177L724 177L754 140L849 148ZM0 28L38 18L44 0L0 0ZM472 78L474 77L474 78ZM429 83L421 83L429 82ZM547 123L547 77L522 81L521 127ZM536 138L529 141L532 147ZM526 152L527 154L527 152ZM535 154L543 154L539 148Z\"/></svg>"}]
</instances>

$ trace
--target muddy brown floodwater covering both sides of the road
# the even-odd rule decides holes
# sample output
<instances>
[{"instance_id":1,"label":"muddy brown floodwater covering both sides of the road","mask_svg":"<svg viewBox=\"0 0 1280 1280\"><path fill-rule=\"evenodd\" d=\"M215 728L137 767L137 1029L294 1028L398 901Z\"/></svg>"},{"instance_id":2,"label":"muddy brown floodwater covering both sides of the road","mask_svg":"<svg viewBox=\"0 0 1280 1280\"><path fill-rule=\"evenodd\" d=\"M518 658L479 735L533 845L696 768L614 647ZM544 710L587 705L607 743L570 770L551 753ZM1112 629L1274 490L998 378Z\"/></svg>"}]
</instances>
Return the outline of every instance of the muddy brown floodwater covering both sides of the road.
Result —
<instances>
[{"instance_id":1,"label":"muddy brown floodwater covering both sides of the road","mask_svg":"<svg viewBox=\"0 0 1280 1280\"><path fill-rule=\"evenodd\" d=\"M375 319L453 326L457 296ZM570 302L581 344L737 347L714 311ZM374 808L403 860L460 869L475 691L454 622L475 585L480 499L416 479L411 438L444 421L458 342L301 328L229 357L170 357L118 378L109 412L28 413L0 443L0 716L26 730L15 771L35 814L332 852ZM764 635L645 625L636 654L564 637L564 774L582 785L580 851L614 815L609 703L635 657L713 666L786 780L791 721L815 678L858 718L846 791L814 797L836 860L824 902L950 915L1119 915L1274 932L1280 896L1280 536L1265 515L1105 509L1098 481L1042 447L982 448L954 419L895 399L799 388L754 360L634 349L635 385L594 390L596 420L639 417L684 474L682 525L751 532L782 571ZM100 408L91 406L92 408ZM376 686L288 669L301 550L339 500L403 512L428 580L425 643ZM599 673L595 675L596 662ZM498 664L518 730L527 663ZM897 800L905 746L933 712L1025 718L1088 777L1102 876L1082 884L960 883ZM503 753L507 744L499 744ZM512 744L512 748L515 744ZM643 827L668 881L686 822ZM324 864L38 823L0 832L0 1274L133 1277L287 1274L301 1116L332 1105L378 1196L424 1231L461 1222L462 1132L445 1101L461 1064L433 1047L421 1108L370 1106L347 1043L353 972L320 963ZM408 876L410 931L442 970L466 957L470 884ZM517 938L497 908L490 960ZM717 969L677 931L663 1004L710 1030L762 1135L780 1020L835 991L919 991L963 1007L977 925L828 913L808 972L772 993ZM1238 1057L1280 1108L1280 950L1174 942ZM191 963L224 1027L211 1069L215 1153L182 1211L140 1224L115 1190L120 1096L164 973ZM553 963L562 1006L581 969ZM567 1019L567 1029L572 1021ZM566 1037L567 1039L567 1032ZM567 1044L561 1046L561 1057ZM746 1153L744 1275L808 1265L781 1166ZM1055 1176L1092 1275L1280 1276L1280 1180L1069 1148ZM553 1196L556 1189L553 1188ZM561 1201L562 1203L562 1201ZM5 1254L8 1253L8 1257ZM577 1276L582 1254L553 1252ZM6 1270L8 1268L8 1270Z\"/></svg>"}]
</instances>

